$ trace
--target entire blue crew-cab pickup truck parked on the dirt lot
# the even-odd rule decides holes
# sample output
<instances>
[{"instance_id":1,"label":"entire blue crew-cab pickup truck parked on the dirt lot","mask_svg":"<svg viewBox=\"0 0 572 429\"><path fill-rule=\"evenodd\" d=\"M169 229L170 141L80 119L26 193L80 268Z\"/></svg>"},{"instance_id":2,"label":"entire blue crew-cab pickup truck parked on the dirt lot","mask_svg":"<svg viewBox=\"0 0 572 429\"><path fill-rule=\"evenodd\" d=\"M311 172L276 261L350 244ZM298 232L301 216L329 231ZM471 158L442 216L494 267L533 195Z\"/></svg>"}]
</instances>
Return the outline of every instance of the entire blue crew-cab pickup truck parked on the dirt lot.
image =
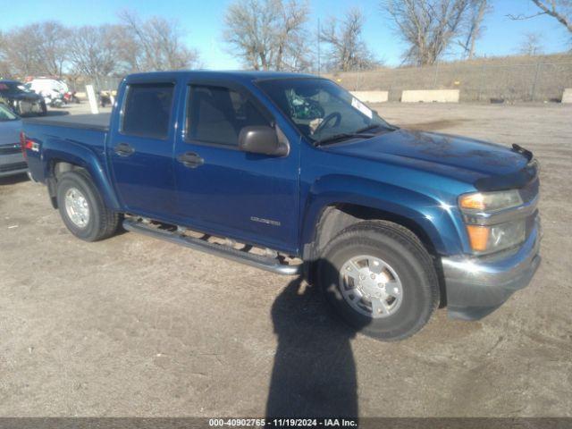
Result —
<instances>
[{"instance_id":1,"label":"entire blue crew-cab pickup truck parked on the dirt lot","mask_svg":"<svg viewBox=\"0 0 572 429\"><path fill-rule=\"evenodd\" d=\"M132 74L109 122L29 120L21 146L81 240L122 226L305 275L384 341L440 306L481 318L540 264L532 153L400 129L312 75Z\"/></svg>"}]
</instances>

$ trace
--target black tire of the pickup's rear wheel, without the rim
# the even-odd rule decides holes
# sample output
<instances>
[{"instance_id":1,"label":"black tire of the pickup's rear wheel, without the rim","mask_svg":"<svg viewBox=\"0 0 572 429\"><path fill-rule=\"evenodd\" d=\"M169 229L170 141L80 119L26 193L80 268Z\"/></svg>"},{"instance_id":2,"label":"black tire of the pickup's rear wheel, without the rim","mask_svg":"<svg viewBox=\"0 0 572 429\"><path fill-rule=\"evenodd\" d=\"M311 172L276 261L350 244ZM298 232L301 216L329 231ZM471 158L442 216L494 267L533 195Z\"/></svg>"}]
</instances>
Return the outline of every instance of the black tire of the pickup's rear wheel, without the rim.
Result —
<instances>
[{"instance_id":1,"label":"black tire of the pickup's rear wheel, without the rim","mask_svg":"<svg viewBox=\"0 0 572 429\"><path fill-rule=\"evenodd\" d=\"M79 227L71 220L65 206L65 194L71 188L78 189L88 204L88 222L83 227ZM63 223L77 238L85 241L104 240L117 231L120 214L105 206L101 194L87 172L64 172L57 181L56 197Z\"/></svg>"}]
</instances>

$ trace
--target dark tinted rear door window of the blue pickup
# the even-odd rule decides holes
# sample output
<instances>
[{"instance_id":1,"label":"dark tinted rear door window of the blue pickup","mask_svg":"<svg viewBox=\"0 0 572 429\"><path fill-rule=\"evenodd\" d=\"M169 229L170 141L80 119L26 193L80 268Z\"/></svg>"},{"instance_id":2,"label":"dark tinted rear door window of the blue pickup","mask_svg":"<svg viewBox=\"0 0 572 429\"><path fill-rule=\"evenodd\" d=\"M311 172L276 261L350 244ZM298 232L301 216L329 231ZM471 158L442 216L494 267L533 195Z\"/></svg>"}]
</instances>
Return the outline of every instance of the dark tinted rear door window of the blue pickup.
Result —
<instances>
[{"instance_id":1,"label":"dark tinted rear door window of the blue pickup","mask_svg":"<svg viewBox=\"0 0 572 429\"><path fill-rule=\"evenodd\" d=\"M166 139L172 114L172 83L132 84L123 104L122 133Z\"/></svg>"}]
</instances>

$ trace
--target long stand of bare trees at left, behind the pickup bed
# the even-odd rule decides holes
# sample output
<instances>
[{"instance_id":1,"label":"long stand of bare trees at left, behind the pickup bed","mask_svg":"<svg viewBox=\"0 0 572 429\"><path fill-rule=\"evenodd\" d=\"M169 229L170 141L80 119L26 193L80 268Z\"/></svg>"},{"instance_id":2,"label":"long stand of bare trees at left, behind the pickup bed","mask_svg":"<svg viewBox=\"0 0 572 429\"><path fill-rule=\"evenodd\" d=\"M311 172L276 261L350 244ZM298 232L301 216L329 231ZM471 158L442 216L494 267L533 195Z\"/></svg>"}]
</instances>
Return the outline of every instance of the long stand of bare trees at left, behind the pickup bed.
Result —
<instances>
[{"instance_id":1,"label":"long stand of bare trees at left, behind the pickup bed","mask_svg":"<svg viewBox=\"0 0 572 429\"><path fill-rule=\"evenodd\" d=\"M200 65L177 21L142 20L129 11L119 18L118 24L83 27L42 21L0 32L0 76L103 77Z\"/></svg>"}]
</instances>

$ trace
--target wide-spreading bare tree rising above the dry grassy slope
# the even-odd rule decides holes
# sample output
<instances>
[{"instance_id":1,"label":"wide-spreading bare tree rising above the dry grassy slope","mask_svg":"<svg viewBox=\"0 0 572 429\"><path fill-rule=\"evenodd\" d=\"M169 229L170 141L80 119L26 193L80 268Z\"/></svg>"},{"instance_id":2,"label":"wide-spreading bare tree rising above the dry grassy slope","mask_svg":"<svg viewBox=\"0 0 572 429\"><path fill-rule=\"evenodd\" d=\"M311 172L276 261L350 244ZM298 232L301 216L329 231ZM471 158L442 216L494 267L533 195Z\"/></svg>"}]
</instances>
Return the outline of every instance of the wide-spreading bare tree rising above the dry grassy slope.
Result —
<instances>
[{"instance_id":1,"label":"wide-spreading bare tree rising above the dry grassy slope","mask_svg":"<svg viewBox=\"0 0 572 429\"><path fill-rule=\"evenodd\" d=\"M435 63L458 38L471 0L383 0L400 38L408 44L404 60Z\"/></svg>"}]
</instances>

